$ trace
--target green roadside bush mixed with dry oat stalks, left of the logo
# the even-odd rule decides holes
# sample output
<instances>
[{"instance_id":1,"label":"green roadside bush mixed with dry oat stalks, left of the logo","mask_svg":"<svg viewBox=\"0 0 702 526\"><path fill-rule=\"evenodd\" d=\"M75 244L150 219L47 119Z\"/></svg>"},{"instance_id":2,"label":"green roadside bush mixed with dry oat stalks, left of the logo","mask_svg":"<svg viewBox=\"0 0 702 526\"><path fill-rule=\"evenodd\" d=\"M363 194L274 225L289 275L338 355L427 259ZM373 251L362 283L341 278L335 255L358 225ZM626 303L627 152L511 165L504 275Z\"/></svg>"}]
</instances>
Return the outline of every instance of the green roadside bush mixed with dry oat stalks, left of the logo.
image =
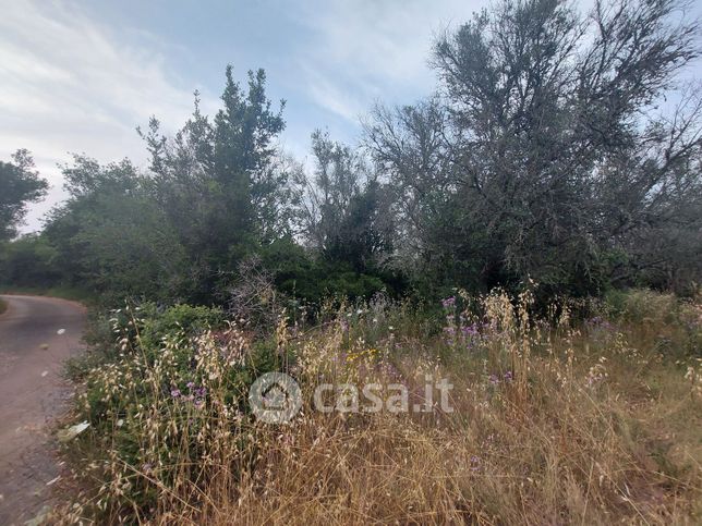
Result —
<instances>
[{"instance_id":1,"label":"green roadside bush mixed with dry oat stalks, left of the logo","mask_svg":"<svg viewBox=\"0 0 702 526\"><path fill-rule=\"evenodd\" d=\"M247 344L241 333L210 332L223 325L216 308L181 304L161 310L144 304L113 314L112 350L109 357L83 369L86 389L78 404L78 418L93 430L78 447L108 452L120 464L120 474L109 476L132 480L104 507L156 504L158 493L149 490L154 478L166 487L182 477L206 484L211 474L203 467L207 458L221 454L211 449L221 432L229 437L229 451L241 462L239 467L250 462L246 396L261 374L279 367L275 342L244 351ZM222 417L231 427L210 426ZM189 458L186 465L172 462L175 451ZM126 466L130 470L122 472ZM143 476L134 477L131 469ZM109 493L106 490L100 492Z\"/></svg>"}]
</instances>

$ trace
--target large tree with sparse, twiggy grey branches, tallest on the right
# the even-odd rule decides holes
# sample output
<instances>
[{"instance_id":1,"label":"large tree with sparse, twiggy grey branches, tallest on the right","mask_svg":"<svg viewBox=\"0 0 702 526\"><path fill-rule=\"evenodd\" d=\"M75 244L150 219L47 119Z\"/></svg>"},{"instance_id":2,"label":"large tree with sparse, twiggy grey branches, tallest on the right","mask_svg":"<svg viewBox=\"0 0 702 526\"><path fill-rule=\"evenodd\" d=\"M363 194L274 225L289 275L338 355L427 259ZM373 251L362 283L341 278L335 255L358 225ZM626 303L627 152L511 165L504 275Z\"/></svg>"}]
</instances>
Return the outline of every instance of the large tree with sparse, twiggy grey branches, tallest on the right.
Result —
<instances>
[{"instance_id":1,"label":"large tree with sparse, twiggy grey branches, tallest on the right","mask_svg":"<svg viewBox=\"0 0 702 526\"><path fill-rule=\"evenodd\" d=\"M560 0L504 0L438 39L440 94L366 126L429 267L592 293L615 254L636 257L634 232L682 220L689 196L673 188L699 189L698 112L675 124L654 111L699 54L677 9L597 1L583 17Z\"/></svg>"}]
</instances>

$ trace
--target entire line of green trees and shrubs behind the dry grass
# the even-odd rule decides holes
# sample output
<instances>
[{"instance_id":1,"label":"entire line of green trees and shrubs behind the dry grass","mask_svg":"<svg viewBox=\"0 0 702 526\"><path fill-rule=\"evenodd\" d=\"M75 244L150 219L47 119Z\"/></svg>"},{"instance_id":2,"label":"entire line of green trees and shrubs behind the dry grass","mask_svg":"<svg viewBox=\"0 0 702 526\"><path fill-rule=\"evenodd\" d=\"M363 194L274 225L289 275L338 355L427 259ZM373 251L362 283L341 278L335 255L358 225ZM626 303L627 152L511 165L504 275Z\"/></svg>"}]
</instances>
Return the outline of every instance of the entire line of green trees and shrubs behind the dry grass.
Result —
<instances>
[{"instance_id":1,"label":"entire line of green trees and shrubs behind the dry grass","mask_svg":"<svg viewBox=\"0 0 702 526\"><path fill-rule=\"evenodd\" d=\"M700 54L677 7L620 0L586 17L501 0L437 39L440 95L376 108L362 147L315 132L308 171L276 146L285 102L264 71L240 83L228 66L213 118L195 94L173 136L155 117L140 130L148 170L63 167L69 199L40 235L1 246L0 282L232 309L265 285L249 309L264 327L269 299L435 301L530 280L544 307L624 288L693 296L701 93L677 97L674 118L654 107ZM23 150L0 170L2 241L46 184Z\"/></svg>"}]
</instances>

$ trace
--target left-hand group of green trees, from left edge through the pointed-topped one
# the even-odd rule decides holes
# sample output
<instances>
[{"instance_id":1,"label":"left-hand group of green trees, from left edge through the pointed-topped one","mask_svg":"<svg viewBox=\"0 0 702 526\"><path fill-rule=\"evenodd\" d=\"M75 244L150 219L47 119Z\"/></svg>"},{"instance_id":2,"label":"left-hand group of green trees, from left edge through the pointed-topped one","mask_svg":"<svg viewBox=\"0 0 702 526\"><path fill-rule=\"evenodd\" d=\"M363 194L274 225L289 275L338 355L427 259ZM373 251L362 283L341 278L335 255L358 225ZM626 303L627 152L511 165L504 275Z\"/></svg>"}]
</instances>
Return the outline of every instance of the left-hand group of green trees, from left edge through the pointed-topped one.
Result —
<instances>
[{"instance_id":1,"label":"left-hand group of green trees, from left edge through the pointed-topped one","mask_svg":"<svg viewBox=\"0 0 702 526\"><path fill-rule=\"evenodd\" d=\"M289 227L287 172L273 147L285 127L282 103L271 110L263 71L250 72L247 89L231 68L226 76L213 122L196 98L173 138L159 134L156 119L140 132L152 154L148 173L129 160L101 166L87 156L62 167L69 199L41 235L3 246L0 282L80 285L107 306L124 298L211 303L243 258ZM0 187L9 199L0 201L1 241L46 183L26 152L0 168L0 184L10 185Z\"/></svg>"}]
</instances>

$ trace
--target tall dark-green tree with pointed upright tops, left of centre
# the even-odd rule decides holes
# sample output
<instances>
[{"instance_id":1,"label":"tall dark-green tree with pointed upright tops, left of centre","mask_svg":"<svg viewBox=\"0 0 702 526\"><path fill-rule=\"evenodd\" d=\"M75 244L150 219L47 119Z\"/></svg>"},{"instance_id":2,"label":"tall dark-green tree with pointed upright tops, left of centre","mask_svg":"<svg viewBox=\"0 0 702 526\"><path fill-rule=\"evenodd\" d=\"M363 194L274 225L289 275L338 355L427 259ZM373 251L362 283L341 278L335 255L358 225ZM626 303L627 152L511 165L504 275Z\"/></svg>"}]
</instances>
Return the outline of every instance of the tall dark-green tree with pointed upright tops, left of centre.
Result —
<instances>
[{"instance_id":1,"label":"tall dark-green tree with pointed upright tops, left of centre","mask_svg":"<svg viewBox=\"0 0 702 526\"><path fill-rule=\"evenodd\" d=\"M153 118L140 132L152 155L154 198L168 216L198 276L199 301L222 289L242 259L287 232L287 163L274 140L285 129L265 91L263 70L247 89L227 68L222 108L210 121L195 110L174 137Z\"/></svg>"}]
</instances>

